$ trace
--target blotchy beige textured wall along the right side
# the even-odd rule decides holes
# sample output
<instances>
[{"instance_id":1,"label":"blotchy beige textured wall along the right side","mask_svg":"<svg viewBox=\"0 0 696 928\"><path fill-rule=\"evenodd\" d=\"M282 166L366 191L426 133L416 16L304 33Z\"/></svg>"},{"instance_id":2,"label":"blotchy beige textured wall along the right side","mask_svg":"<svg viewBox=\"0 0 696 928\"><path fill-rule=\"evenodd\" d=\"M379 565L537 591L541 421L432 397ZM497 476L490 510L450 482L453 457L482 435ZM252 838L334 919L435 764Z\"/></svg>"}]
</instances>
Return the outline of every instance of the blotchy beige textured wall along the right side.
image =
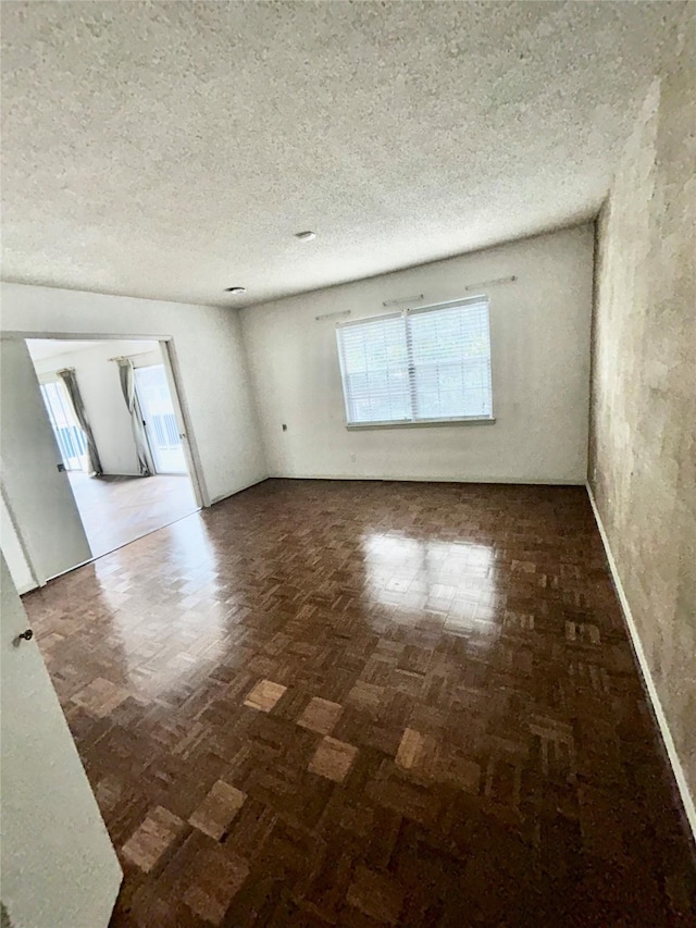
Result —
<instances>
[{"instance_id":1,"label":"blotchy beige textured wall along the right side","mask_svg":"<svg viewBox=\"0 0 696 928\"><path fill-rule=\"evenodd\" d=\"M696 796L696 30L652 85L598 225L589 479Z\"/></svg>"}]
</instances>

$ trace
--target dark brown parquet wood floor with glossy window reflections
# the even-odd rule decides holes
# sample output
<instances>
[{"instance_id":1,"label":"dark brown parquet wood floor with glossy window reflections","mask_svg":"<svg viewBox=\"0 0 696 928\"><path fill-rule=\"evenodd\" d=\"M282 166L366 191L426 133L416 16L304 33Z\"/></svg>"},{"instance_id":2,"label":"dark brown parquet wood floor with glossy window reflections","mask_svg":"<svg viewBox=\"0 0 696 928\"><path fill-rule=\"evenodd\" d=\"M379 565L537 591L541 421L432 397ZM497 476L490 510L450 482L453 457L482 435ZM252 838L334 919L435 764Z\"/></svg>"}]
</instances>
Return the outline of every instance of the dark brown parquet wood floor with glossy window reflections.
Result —
<instances>
[{"instance_id":1,"label":"dark brown parquet wood floor with glossy window reflections","mask_svg":"<svg viewBox=\"0 0 696 928\"><path fill-rule=\"evenodd\" d=\"M113 926L696 924L580 487L266 481L25 605Z\"/></svg>"}]
</instances>

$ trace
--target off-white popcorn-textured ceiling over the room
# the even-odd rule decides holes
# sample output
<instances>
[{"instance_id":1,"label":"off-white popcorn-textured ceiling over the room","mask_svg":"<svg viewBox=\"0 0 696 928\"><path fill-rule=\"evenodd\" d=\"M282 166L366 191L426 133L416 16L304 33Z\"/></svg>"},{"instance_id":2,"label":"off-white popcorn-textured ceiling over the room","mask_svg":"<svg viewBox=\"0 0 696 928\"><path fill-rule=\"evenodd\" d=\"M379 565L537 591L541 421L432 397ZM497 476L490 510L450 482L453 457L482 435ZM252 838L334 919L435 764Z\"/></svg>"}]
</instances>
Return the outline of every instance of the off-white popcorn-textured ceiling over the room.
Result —
<instances>
[{"instance_id":1,"label":"off-white popcorn-textured ceiling over the room","mask_svg":"<svg viewBox=\"0 0 696 928\"><path fill-rule=\"evenodd\" d=\"M1 8L3 277L247 306L594 215L684 4Z\"/></svg>"}]
</instances>

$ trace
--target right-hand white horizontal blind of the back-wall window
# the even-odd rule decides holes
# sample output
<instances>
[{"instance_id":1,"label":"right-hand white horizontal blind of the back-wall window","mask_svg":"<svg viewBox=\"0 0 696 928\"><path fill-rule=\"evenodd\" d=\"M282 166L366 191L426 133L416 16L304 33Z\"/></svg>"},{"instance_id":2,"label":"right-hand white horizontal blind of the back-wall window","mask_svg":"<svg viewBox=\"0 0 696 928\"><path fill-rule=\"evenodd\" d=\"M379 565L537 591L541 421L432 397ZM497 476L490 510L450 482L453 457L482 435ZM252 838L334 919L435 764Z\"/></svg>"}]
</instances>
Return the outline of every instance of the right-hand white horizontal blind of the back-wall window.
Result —
<instances>
[{"instance_id":1,"label":"right-hand white horizontal blind of the back-wall window","mask_svg":"<svg viewBox=\"0 0 696 928\"><path fill-rule=\"evenodd\" d=\"M411 347L414 419L488 417L490 338L485 301L412 312Z\"/></svg>"}]
</instances>

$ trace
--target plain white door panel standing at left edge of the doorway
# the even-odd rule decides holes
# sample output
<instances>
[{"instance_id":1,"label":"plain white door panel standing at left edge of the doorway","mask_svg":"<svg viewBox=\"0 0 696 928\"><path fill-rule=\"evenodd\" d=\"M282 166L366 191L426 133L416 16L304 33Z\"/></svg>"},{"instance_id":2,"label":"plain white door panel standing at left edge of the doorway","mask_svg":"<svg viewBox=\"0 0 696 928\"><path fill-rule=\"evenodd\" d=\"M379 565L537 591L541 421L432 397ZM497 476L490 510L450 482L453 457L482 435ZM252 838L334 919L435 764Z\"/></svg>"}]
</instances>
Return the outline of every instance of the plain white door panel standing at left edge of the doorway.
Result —
<instances>
[{"instance_id":1,"label":"plain white door panel standing at left edge of the doorway","mask_svg":"<svg viewBox=\"0 0 696 928\"><path fill-rule=\"evenodd\" d=\"M91 558L91 550L36 372L21 338L0 342L0 435L8 505L39 583Z\"/></svg>"}]
</instances>

